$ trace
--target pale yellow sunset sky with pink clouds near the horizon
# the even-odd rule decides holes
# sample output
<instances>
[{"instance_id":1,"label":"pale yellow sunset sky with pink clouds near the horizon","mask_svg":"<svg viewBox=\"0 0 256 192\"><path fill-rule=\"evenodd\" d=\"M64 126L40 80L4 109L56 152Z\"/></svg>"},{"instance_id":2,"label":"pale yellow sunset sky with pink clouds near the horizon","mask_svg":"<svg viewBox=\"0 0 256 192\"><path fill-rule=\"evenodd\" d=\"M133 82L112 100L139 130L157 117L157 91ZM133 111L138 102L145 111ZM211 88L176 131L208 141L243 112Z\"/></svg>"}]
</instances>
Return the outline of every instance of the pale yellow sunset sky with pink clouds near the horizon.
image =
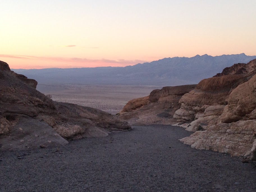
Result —
<instances>
[{"instance_id":1,"label":"pale yellow sunset sky with pink clouds near the horizon","mask_svg":"<svg viewBox=\"0 0 256 192\"><path fill-rule=\"evenodd\" d=\"M10 68L127 66L256 55L255 0L0 0Z\"/></svg>"}]
</instances>

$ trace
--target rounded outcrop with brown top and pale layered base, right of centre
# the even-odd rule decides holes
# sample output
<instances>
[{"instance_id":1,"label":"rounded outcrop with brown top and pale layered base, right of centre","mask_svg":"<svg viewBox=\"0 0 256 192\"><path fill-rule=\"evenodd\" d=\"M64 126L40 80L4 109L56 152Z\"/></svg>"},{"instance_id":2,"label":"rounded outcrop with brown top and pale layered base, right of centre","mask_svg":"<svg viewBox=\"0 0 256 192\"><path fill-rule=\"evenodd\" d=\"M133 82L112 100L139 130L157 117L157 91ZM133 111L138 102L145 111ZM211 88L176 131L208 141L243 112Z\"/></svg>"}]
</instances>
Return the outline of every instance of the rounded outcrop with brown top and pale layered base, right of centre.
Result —
<instances>
[{"instance_id":1,"label":"rounded outcrop with brown top and pale layered base, right of centre","mask_svg":"<svg viewBox=\"0 0 256 192\"><path fill-rule=\"evenodd\" d=\"M246 75L227 75L203 79L194 90L181 97L179 101L181 110L175 111L173 118L178 121L193 121L202 117L202 113L209 106L225 105L230 92L247 80Z\"/></svg>"}]
</instances>

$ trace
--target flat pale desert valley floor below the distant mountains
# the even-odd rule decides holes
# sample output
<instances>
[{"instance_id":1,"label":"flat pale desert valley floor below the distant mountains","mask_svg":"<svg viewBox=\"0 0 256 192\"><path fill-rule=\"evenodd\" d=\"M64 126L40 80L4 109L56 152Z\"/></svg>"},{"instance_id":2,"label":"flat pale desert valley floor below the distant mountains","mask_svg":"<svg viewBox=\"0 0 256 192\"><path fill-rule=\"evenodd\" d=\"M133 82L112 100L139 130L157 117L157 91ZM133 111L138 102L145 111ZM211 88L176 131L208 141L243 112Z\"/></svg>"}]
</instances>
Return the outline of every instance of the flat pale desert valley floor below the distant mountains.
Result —
<instances>
[{"instance_id":1,"label":"flat pale desert valley floor below the distant mountains","mask_svg":"<svg viewBox=\"0 0 256 192\"><path fill-rule=\"evenodd\" d=\"M52 100L92 107L115 114L135 98L144 97L156 86L132 85L83 85L83 84L38 84L36 89Z\"/></svg>"}]
</instances>

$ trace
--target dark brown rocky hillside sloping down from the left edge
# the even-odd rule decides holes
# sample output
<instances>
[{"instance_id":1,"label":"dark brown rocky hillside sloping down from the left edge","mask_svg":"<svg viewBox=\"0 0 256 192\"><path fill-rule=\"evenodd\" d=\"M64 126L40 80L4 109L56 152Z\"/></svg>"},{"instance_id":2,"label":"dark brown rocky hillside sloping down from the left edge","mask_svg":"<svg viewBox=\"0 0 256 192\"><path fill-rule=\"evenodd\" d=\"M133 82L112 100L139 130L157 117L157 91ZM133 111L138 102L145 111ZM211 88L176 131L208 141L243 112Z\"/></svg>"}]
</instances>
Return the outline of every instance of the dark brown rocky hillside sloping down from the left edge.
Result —
<instances>
[{"instance_id":1,"label":"dark brown rocky hillside sloping down from the left edge","mask_svg":"<svg viewBox=\"0 0 256 192\"><path fill-rule=\"evenodd\" d=\"M38 92L36 85L0 61L0 150L64 145L70 139L131 128L98 109L54 102Z\"/></svg>"}]
</instances>

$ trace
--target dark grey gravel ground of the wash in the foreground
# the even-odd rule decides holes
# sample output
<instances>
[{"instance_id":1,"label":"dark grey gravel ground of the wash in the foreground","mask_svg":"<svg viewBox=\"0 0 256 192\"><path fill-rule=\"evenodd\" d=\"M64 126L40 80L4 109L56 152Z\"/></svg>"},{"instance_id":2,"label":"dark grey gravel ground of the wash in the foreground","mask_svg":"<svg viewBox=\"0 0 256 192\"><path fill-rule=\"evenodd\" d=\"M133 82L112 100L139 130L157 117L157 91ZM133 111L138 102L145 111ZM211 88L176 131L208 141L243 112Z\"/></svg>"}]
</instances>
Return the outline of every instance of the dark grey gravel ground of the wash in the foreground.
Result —
<instances>
[{"instance_id":1,"label":"dark grey gravel ground of the wash in the foreground","mask_svg":"<svg viewBox=\"0 0 256 192\"><path fill-rule=\"evenodd\" d=\"M255 163L178 141L189 134L143 126L60 148L0 152L0 191L256 191Z\"/></svg>"}]
</instances>

